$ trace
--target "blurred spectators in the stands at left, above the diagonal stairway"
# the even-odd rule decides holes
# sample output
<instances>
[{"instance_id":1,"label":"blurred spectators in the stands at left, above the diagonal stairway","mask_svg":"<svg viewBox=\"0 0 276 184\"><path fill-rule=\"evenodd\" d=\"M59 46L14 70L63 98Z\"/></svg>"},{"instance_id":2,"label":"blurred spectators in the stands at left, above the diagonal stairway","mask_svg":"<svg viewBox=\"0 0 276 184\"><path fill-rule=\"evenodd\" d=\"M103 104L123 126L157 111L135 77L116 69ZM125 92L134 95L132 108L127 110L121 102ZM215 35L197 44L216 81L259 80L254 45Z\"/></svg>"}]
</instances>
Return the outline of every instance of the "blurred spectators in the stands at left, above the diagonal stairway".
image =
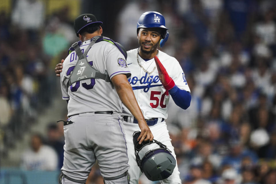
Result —
<instances>
[{"instance_id":1,"label":"blurred spectators in the stands at left, above the diagonal stairway","mask_svg":"<svg viewBox=\"0 0 276 184\"><path fill-rule=\"evenodd\" d=\"M68 7L46 16L50 4L46 2L1 1L1 154L7 154L6 149L14 147L51 105L59 90L53 68L66 57L70 44L78 40Z\"/></svg>"}]
</instances>

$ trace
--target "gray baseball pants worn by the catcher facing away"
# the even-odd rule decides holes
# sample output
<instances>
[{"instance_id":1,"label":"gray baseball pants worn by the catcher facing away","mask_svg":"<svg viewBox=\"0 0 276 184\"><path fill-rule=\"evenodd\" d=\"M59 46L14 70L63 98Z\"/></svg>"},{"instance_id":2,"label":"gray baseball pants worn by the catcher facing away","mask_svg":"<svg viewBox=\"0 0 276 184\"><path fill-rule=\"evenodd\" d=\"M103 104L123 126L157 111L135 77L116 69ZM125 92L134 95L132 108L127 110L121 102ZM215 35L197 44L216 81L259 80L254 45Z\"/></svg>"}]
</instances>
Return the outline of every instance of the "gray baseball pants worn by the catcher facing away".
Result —
<instances>
[{"instance_id":1,"label":"gray baseball pants worn by the catcher facing away","mask_svg":"<svg viewBox=\"0 0 276 184\"><path fill-rule=\"evenodd\" d=\"M112 180L130 167L120 113L83 113L69 120L74 123L64 126L64 162L61 170L67 178L62 179L62 184L85 183L96 159L106 184L127 184L127 177Z\"/></svg>"}]
</instances>

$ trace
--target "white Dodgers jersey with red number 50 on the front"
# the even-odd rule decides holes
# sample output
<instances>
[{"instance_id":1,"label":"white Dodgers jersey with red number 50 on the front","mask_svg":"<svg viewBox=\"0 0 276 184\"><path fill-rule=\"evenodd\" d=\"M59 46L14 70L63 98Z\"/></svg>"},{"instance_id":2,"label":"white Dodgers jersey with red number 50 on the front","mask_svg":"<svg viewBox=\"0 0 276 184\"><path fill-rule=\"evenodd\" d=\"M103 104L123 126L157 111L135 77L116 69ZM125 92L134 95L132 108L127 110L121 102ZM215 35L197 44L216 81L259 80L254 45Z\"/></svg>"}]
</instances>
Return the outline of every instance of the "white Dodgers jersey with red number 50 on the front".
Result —
<instances>
[{"instance_id":1,"label":"white Dodgers jersey with red number 50 on the front","mask_svg":"<svg viewBox=\"0 0 276 184\"><path fill-rule=\"evenodd\" d=\"M137 51L138 49L127 51L127 65L131 71L129 83L131 84L136 100L145 119L166 119L168 117L167 104L169 96L166 95L166 89L163 87L159 79L157 68L152 72L156 66L154 58L145 61L138 55L141 66L143 66L143 68L148 72L152 72L151 74L147 74L137 62ZM174 57L171 57L160 50L158 58L166 68L169 76L175 82L175 85L177 85L179 89L190 92L179 62ZM122 116L132 116L124 105Z\"/></svg>"}]
</instances>

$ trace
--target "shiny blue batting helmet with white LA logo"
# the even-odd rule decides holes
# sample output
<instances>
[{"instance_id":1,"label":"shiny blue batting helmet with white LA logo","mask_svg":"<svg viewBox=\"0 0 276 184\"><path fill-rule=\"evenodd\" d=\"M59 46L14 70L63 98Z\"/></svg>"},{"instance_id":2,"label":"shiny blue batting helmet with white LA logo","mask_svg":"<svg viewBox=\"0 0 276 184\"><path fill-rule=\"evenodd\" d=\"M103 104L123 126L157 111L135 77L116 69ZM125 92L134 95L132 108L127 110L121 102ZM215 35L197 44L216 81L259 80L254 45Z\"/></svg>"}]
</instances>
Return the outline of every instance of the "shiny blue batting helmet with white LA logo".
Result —
<instances>
[{"instance_id":1,"label":"shiny blue batting helmet with white LA logo","mask_svg":"<svg viewBox=\"0 0 276 184\"><path fill-rule=\"evenodd\" d=\"M169 32L166 28L165 18L157 11L147 11L143 13L137 22L137 34L140 28L162 28L164 31L161 34L159 46L162 48L168 40Z\"/></svg>"}]
</instances>

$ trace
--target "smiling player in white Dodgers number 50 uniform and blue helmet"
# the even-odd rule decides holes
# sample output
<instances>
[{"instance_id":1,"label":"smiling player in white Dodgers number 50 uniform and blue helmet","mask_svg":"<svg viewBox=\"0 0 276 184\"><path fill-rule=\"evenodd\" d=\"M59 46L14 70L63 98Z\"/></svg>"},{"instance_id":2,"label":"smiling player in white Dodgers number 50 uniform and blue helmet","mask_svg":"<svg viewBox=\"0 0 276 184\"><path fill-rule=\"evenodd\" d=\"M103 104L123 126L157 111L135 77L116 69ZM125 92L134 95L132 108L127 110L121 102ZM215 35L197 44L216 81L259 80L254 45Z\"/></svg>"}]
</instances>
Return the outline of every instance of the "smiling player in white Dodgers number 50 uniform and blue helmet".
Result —
<instances>
[{"instance_id":1,"label":"smiling player in white Dodgers number 50 uniform and blue helmet","mask_svg":"<svg viewBox=\"0 0 276 184\"><path fill-rule=\"evenodd\" d=\"M166 145L176 157L164 121L168 117L166 104L171 96L179 107L187 109L191 95L179 62L157 49L158 45L162 47L168 39L164 17L155 11L142 14L137 23L137 39L140 47L127 51L127 66L132 73L128 80L154 138ZM154 59L154 56L158 58ZM155 60L158 59L163 73L156 64ZM59 76L62 72L61 64L57 64L55 72ZM130 183L138 184L142 173L135 160L132 136L133 132L139 131L138 121L124 105L122 110L130 165ZM181 184L179 174L176 166L173 174L161 183Z\"/></svg>"}]
</instances>

